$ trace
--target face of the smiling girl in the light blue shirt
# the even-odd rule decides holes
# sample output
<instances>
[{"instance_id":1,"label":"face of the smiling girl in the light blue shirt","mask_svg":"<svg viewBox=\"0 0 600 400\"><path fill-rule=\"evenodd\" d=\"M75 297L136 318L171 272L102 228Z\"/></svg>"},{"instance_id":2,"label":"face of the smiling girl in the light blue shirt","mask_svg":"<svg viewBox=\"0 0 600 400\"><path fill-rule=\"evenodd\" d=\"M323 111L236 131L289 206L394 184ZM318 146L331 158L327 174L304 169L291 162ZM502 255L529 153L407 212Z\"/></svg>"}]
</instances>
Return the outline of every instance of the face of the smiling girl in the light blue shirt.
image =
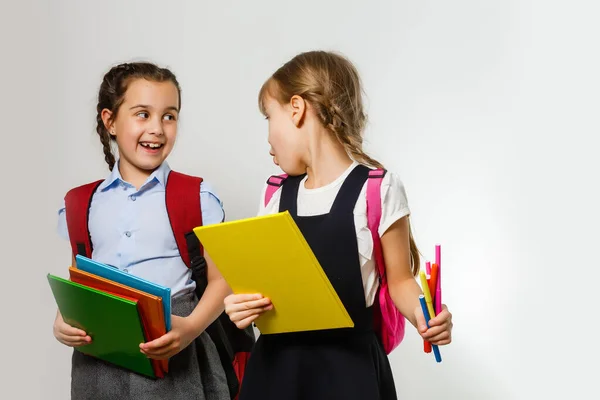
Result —
<instances>
[{"instance_id":1,"label":"face of the smiling girl in the light blue shirt","mask_svg":"<svg viewBox=\"0 0 600 400\"><path fill-rule=\"evenodd\" d=\"M172 82L131 81L109 127L117 140L120 169L148 173L158 168L175 144L178 117L179 92Z\"/></svg>"}]
</instances>

